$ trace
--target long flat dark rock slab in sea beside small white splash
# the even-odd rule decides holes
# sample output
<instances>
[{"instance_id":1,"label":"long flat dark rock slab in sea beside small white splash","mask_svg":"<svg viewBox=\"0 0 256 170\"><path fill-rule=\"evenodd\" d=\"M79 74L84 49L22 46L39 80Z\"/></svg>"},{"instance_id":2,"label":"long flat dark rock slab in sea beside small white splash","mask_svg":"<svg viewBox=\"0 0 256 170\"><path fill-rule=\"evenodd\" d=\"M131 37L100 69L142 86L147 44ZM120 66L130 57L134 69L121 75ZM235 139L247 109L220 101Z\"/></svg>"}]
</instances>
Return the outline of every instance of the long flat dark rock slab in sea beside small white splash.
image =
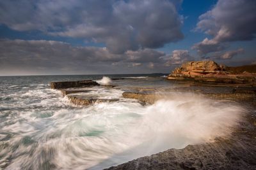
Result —
<instances>
[{"instance_id":1,"label":"long flat dark rock slab in sea beside small white splash","mask_svg":"<svg viewBox=\"0 0 256 170\"><path fill-rule=\"evenodd\" d=\"M67 89L67 88L73 88L73 87L92 87L100 84L92 80L82 80L82 81L51 82L50 85L51 85L51 89Z\"/></svg>"}]
</instances>

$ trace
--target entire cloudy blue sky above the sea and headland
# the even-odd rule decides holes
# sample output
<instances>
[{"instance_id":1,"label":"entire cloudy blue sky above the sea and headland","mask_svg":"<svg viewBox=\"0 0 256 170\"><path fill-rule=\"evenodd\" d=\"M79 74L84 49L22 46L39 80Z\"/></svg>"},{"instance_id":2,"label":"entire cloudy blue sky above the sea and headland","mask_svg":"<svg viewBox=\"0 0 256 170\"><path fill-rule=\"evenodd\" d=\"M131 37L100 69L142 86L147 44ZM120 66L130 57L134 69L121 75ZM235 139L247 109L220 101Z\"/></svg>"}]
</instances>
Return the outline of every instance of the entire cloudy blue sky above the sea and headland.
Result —
<instances>
[{"instance_id":1,"label":"entire cloudy blue sky above the sea and headland","mask_svg":"<svg viewBox=\"0 0 256 170\"><path fill-rule=\"evenodd\" d=\"M0 1L0 76L256 64L255 0Z\"/></svg>"}]
</instances>

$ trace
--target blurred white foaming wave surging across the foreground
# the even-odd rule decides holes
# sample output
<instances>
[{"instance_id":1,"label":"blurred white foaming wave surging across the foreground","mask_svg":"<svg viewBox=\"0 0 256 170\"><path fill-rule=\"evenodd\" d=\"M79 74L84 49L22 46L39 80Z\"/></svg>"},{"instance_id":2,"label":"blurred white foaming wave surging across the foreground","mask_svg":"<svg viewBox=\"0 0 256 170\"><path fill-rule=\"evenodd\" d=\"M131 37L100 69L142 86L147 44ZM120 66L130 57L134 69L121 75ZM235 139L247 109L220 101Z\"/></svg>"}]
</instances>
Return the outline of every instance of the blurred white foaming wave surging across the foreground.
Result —
<instances>
[{"instance_id":1,"label":"blurred white foaming wave surging across the foreground","mask_svg":"<svg viewBox=\"0 0 256 170\"><path fill-rule=\"evenodd\" d=\"M19 111L2 124L1 131L8 133L0 136L0 166L12 158L7 169L102 169L168 148L226 138L242 113L234 103L193 94L173 94L151 106L127 100Z\"/></svg>"}]
</instances>

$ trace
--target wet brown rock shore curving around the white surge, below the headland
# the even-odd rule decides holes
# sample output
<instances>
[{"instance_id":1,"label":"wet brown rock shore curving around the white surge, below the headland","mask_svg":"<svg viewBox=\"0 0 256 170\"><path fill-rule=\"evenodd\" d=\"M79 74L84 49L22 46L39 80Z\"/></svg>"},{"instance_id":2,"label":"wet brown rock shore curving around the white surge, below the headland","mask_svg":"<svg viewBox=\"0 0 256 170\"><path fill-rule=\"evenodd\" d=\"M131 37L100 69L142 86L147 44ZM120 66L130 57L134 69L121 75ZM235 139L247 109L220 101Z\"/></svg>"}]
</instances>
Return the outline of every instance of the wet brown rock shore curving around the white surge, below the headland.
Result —
<instances>
[{"instance_id":1,"label":"wet brown rock shore curving around the white surge, below the headland","mask_svg":"<svg viewBox=\"0 0 256 170\"><path fill-rule=\"evenodd\" d=\"M141 104L154 104L159 99L172 96L173 92L185 92L193 94L192 97L206 96L219 101L223 100L223 102L225 100L234 101L251 109L250 111L247 110L248 113L244 115L243 121L239 123L239 126L234 129L234 132L228 138L216 138L211 143L188 145L182 149L170 148L164 152L140 157L106 169L255 169L256 117L252 108L256 106L256 87L244 84L196 83L195 81L189 83L188 81L182 81L180 83L184 83L185 87L174 89L168 87L163 89L141 87L130 92L124 92L122 96L129 99L137 99ZM196 89L196 87L201 87L201 90ZM223 89L224 87L226 92L209 92L204 87L212 87L212 89ZM109 88L113 87L110 86ZM67 92L62 90L63 94ZM77 93L77 91L74 90L74 93ZM88 105L79 104L77 99L75 100L74 98L70 99L74 104ZM97 169L97 166L90 169Z\"/></svg>"}]
</instances>

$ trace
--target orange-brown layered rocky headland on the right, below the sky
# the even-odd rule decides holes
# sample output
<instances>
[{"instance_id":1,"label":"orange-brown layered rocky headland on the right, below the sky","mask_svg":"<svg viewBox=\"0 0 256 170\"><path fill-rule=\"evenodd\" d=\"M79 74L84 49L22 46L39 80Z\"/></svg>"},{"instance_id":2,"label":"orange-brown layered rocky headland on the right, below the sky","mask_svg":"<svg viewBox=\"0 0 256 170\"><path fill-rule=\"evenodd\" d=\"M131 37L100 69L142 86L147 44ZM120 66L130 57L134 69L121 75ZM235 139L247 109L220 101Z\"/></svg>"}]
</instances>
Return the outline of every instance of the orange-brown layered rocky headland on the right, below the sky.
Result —
<instances>
[{"instance_id":1,"label":"orange-brown layered rocky headland on the right, below the sky","mask_svg":"<svg viewBox=\"0 0 256 170\"><path fill-rule=\"evenodd\" d=\"M244 72L241 73L234 67L226 67L217 64L214 61L191 61L185 62L181 67L176 68L168 75L168 80L190 80L195 82L206 83L227 83L227 84L247 84L256 85L256 74L246 71L254 71L252 66L242 67ZM256 71L255 71L256 72Z\"/></svg>"}]
</instances>

